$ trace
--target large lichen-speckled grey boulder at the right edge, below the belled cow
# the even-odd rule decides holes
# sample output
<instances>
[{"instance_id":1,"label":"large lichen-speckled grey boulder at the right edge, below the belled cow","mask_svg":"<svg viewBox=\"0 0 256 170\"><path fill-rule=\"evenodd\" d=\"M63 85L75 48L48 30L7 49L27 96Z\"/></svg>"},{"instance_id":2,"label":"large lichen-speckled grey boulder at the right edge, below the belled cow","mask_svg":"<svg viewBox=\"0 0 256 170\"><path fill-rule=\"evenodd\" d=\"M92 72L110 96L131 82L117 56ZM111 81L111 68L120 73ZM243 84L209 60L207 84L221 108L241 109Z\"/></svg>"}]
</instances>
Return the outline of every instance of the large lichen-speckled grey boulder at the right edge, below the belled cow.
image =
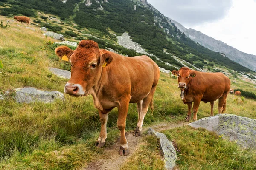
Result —
<instances>
[{"instance_id":1,"label":"large lichen-speckled grey boulder at the right edge, below the belled cow","mask_svg":"<svg viewBox=\"0 0 256 170\"><path fill-rule=\"evenodd\" d=\"M235 141L243 148L256 148L256 119L218 114L189 123L189 126L205 128L223 135L223 138Z\"/></svg>"}]
</instances>

